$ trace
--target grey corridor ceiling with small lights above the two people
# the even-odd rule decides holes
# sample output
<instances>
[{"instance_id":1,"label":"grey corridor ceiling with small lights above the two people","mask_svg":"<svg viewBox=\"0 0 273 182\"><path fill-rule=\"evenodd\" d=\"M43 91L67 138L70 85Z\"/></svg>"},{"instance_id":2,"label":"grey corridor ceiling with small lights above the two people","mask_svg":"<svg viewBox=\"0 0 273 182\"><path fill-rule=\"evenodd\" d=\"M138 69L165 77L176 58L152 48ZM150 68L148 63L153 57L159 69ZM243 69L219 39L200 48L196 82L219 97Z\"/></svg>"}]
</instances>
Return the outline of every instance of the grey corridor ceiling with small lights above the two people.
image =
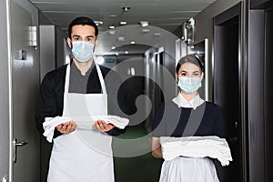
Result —
<instances>
[{"instance_id":1,"label":"grey corridor ceiling with small lights above the two people","mask_svg":"<svg viewBox=\"0 0 273 182\"><path fill-rule=\"evenodd\" d=\"M99 55L113 49L124 53L125 45L129 46L130 54L141 54L147 46L158 45L159 39L161 42L173 42L176 37L181 37L184 22L216 0L29 1L54 25L64 31L67 31L67 25L80 15L101 22L98 26L100 43L96 48L96 53ZM126 22L126 25L120 25L120 22ZM140 22L148 22L148 26L142 27ZM110 26L115 28L110 29ZM176 37L172 40L167 38L173 35ZM164 36L165 39L162 38ZM135 42L136 45L131 46ZM122 50L118 50L119 48Z\"/></svg>"}]
</instances>

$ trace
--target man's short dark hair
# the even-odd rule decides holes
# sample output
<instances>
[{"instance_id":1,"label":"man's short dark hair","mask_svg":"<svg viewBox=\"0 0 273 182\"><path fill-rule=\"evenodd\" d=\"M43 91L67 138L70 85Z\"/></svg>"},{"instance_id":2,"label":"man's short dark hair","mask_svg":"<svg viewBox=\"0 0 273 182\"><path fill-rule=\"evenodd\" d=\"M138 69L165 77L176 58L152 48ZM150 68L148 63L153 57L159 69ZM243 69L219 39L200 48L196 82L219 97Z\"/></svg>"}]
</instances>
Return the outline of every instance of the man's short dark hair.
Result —
<instances>
[{"instance_id":1,"label":"man's short dark hair","mask_svg":"<svg viewBox=\"0 0 273 182\"><path fill-rule=\"evenodd\" d=\"M95 22L91 18L89 18L89 17L80 16L80 17L76 17L76 19L74 19L70 23L70 25L68 25L68 35L69 35L69 38L71 38L72 27L74 25L92 25L95 28L95 35L96 36L98 35L98 29L97 29L97 26L96 26Z\"/></svg>"}]
</instances>

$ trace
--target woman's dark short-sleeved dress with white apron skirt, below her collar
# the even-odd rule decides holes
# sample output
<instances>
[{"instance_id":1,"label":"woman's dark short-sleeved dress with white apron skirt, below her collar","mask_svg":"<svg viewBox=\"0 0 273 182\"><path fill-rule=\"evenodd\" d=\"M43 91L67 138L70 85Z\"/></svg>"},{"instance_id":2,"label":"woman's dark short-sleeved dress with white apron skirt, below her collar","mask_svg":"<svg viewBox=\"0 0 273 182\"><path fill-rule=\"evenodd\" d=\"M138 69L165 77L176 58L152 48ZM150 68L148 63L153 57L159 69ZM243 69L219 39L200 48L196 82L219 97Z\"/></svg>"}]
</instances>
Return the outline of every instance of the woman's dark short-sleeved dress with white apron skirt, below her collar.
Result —
<instances>
[{"instance_id":1,"label":"woman's dark short-sleeved dress with white apron skirt, below her collar","mask_svg":"<svg viewBox=\"0 0 273 182\"><path fill-rule=\"evenodd\" d=\"M223 118L219 106L204 102L193 108L178 107L173 101L158 107L152 136L223 136ZM159 182L218 182L213 161L207 157L176 157L165 160Z\"/></svg>"}]
</instances>

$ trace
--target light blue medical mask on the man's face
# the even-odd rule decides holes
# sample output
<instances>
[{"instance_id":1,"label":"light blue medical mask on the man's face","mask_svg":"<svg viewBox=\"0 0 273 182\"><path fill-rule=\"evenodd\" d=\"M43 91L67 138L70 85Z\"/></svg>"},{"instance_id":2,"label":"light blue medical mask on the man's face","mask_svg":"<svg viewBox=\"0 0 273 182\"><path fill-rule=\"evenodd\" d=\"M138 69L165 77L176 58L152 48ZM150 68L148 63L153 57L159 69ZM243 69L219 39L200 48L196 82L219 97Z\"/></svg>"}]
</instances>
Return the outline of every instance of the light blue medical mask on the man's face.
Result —
<instances>
[{"instance_id":1,"label":"light blue medical mask on the man's face","mask_svg":"<svg viewBox=\"0 0 273 182\"><path fill-rule=\"evenodd\" d=\"M93 57L94 46L86 41L72 42L72 54L79 62L87 62Z\"/></svg>"}]
</instances>

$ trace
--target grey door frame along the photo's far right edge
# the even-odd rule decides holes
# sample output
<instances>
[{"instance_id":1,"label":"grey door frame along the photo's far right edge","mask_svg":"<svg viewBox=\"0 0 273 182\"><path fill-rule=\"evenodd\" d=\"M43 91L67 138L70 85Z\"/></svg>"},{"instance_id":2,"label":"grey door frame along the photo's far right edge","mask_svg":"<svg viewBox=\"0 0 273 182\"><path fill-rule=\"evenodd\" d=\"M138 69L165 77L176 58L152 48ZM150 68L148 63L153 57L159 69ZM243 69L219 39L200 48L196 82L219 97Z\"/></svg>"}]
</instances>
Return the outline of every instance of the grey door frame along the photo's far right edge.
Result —
<instances>
[{"instance_id":1,"label":"grey door frame along the photo's far right edge","mask_svg":"<svg viewBox=\"0 0 273 182\"><path fill-rule=\"evenodd\" d=\"M266 3L267 2L267 3ZM270 37L267 30L268 11L273 9L273 1L250 1L248 10L248 161L249 180L272 181L270 170L271 145L271 60L268 60ZM272 36L271 36L272 37ZM270 46L269 46L270 47ZM269 50L268 50L269 49ZM270 52L271 54L271 52ZM250 82L251 81L251 82ZM269 84L270 83L270 84ZM271 97L272 98L272 97ZM255 137L254 137L255 136Z\"/></svg>"}]
</instances>

